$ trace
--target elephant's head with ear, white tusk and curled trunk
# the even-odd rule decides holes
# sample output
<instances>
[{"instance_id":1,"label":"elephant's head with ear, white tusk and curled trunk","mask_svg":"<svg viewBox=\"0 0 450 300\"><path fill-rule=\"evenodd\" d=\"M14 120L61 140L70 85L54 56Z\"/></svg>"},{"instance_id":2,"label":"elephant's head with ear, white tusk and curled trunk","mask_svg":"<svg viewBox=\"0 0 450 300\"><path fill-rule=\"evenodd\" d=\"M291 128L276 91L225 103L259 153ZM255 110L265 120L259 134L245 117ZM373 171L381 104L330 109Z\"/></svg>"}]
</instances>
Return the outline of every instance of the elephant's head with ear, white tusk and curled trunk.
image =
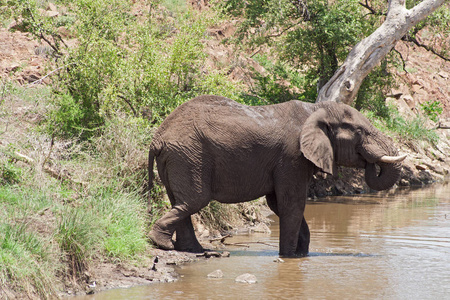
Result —
<instances>
[{"instance_id":1,"label":"elephant's head with ear, white tusk and curled trunk","mask_svg":"<svg viewBox=\"0 0 450 300\"><path fill-rule=\"evenodd\" d=\"M328 174L336 174L336 165L365 168L367 185L377 191L397 182L406 157L398 156L393 141L366 117L342 103L322 103L308 117L300 147L308 160Z\"/></svg>"}]
</instances>

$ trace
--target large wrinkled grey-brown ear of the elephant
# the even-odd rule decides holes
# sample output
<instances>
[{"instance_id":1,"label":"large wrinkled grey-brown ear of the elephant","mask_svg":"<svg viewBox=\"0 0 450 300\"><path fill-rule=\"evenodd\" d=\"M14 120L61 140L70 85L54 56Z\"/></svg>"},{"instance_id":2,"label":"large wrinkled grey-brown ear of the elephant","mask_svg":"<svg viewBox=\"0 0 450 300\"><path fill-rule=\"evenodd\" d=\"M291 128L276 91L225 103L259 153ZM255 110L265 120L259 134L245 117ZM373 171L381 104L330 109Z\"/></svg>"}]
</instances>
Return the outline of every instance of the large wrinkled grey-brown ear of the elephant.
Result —
<instances>
[{"instance_id":1,"label":"large wrinkled grey-brown ear of the elephant","mask_svg":"<svg viewBox=\"0 0 450 300\"><path fill-rule=\"evenodd\" d=\"M334 151L328 137L327 112L320 108L306 119L300 136L303 155L323 172L335 175Z\"/></svg>"}]
</instances>

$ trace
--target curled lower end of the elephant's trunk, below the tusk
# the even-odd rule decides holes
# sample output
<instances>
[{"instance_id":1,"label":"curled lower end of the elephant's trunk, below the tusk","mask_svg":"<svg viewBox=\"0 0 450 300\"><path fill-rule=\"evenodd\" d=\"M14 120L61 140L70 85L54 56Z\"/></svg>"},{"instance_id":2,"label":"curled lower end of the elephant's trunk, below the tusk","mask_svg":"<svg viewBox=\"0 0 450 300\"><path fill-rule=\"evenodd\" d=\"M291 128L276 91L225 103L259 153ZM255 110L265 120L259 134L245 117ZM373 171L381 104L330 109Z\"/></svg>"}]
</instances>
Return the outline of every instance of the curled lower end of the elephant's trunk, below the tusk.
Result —
<instances>
[{"instance_id":1,"label":"curled lower end of the elephant's trunk, below the tusk","mask_svg":"<svg viewBox=\"0 0 450 300\"><path fill-rule=\"evenodd\" d=\"M396 163L377 163L380 167L380 172L377 174L377 168L374 163L367 163L365 179L367 185L376 191L386 190L392 187L400 178L402 165Z\"/></svg>"}]
</instances>

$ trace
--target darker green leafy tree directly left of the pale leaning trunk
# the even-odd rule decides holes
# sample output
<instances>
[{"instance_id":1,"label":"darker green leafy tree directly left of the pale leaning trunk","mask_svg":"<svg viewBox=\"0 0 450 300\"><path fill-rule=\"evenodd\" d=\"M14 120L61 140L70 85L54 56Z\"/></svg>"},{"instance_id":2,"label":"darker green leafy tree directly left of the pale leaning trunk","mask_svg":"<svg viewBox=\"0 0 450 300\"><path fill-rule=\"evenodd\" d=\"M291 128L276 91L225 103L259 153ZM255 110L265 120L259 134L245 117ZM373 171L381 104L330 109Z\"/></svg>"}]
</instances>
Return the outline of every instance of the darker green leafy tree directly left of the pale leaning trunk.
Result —
<instances>
[{"instance_id":1,"label":"darker green leafy tree directly left of the pale leaning trunk","mask_svg":"<svg viewBox=\"0 0 450 300\"><path fill-rule=\"evenodd\" d=\"M339 61L372 30L373 23L371 16L362 17L362 7L354 0L231 0L218 5L225 14L243 18L238 41L252 47L272 46L283 64L305 74L303 99L317 97Z\"/></svg>"}]
</instances>

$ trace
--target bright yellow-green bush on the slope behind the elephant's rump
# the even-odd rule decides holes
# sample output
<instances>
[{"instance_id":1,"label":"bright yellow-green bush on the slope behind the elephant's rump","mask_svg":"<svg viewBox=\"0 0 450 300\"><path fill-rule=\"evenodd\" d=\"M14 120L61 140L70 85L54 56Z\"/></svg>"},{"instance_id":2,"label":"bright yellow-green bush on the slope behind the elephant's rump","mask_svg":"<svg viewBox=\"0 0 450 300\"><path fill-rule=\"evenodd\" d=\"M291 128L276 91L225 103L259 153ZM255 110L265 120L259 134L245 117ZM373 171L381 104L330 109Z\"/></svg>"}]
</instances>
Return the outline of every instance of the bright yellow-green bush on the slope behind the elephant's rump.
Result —
<instances>
[{"instance_id":1,"label":"bright yellow-green bush on the slope behind the elephant's rump","mask_svg":"<svg viewBox=\"0 0 450 300\"><path fill-rule=\"evenodd\" d=\"M206 19L190 12L169 18L166 10L155 7L141 19L129 13L128 1L115 2L72 4L80 16L75 23L79 46L62 63L68 67L48 122L65 124L64 132L91 136L118 111L160 123L181 103L216 90L205 85L211 78L203 67ZM154 22L159 18L166 22ZM63 122L65 117L69 122Z\"/></svg>"}]
</instances>

